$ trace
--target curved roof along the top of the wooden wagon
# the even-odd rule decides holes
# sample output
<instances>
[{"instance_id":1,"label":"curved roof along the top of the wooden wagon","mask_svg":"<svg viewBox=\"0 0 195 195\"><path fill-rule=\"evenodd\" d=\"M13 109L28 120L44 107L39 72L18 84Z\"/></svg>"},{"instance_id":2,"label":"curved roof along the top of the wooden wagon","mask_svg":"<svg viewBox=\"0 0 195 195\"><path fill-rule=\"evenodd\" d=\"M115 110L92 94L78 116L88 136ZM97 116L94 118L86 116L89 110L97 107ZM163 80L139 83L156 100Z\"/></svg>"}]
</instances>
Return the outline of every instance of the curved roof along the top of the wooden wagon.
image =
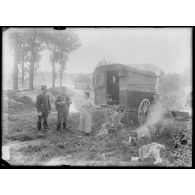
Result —
<instances>
[{"instance_id":1,"label":"curved roof along the top of the wooden wagon","mask_svg":"<svg viewBox=\"0 0 195 195\"><path fill-rule=\"evenodd\" d=\"M140 70L137 68L133 68L128 65L123 65L123 64L108 64L108 65L101 65L95 68L94 72L96 71L107 71L107 70L123 70L123 71L131 71L131 72L137 72L141 74L146 74L146 75L151 75L151 76L157 76L154 72L152 71L145 71L145 70Z\"/></svg>"}]
</instances>

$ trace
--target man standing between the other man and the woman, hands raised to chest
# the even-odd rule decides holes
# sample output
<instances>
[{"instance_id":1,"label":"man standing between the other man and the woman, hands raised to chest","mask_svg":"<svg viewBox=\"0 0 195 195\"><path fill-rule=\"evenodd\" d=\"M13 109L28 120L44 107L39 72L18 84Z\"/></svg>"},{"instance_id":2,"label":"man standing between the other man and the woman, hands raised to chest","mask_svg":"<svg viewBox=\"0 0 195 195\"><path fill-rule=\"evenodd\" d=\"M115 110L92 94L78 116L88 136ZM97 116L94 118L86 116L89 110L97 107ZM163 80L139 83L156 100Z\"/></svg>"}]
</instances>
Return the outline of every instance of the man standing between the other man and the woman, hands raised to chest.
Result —
<instances>
[{"instance_id":1,"label":"man standing between the other man and the woman, hands raised to chest","mask_svg":"<svg viewBox=\"0 0 195 195\"><path fill-rule=\"evenodd\" d=\"M66 94L66 87L62 87L62 93L55 101L56 110L58 111L57 130L61 128L61 124L63 124L63 129L66 130L69 107L71 103L70 97Z\"/></svg>"}]
</instances>

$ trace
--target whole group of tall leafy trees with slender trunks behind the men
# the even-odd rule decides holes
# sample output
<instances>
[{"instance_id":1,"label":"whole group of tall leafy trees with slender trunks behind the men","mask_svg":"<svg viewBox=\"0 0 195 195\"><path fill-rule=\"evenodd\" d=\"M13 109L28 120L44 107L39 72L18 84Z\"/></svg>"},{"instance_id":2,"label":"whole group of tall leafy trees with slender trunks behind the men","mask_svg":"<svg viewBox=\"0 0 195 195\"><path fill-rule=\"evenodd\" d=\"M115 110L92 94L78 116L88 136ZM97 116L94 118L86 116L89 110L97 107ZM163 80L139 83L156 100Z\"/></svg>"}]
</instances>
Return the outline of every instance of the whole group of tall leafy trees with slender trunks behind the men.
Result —
<instances>
[{"instance_id":1,"label":"whole group of tall leafy trees with slender trunks behind the men","mask_svg":"<svg viewBox=\"0 0 195 195\"><path fill-rule=\"evenodd\" d=\"M14 53L13 89L18 89L19 76L24 87L25 75L29 77L29 89L33 89L34 73L39 68L40 52L51 51L52 87L57 77L56 64L60 65L59 79L62 86L63 73L69 54L79 48L81 43L76 33L45 28L13 29L9 33L11 48Z\"/></svg>"}]
</instances>

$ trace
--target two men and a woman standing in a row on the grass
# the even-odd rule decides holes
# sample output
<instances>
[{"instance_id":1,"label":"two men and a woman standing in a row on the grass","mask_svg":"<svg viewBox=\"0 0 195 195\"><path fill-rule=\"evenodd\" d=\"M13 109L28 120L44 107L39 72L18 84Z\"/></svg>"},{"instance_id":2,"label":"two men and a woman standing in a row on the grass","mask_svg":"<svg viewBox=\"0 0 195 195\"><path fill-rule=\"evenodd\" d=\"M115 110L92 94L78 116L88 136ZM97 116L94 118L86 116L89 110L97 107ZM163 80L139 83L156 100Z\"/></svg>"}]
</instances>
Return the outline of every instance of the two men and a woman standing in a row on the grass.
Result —
<instances>
[{"instance_id":1,"label":"two men and a woman standing in a row on the grass","mask_svg":"<svg viewBox=\"0 0 195 195\"><path fill-rule=\"evenodd\" d=\"M55 107L57 110L57 127L56 130L67 129L67 119L69 114L69 107L72 103L69 95L66 93L66 87L62 87L60 95L56 98ZM41 86L41 93L37 96L36 107L38 111L37 128L41 130L42 124L45 130L48 129L47 118L51 111L51 103L49 95L47 94L47 86ZM90 93L84 92L84 103L81 105L80 120L78 129L89 135L92 130L92 114L95 111L95 105L90 100Z\"/></svg>"}]
</instances>

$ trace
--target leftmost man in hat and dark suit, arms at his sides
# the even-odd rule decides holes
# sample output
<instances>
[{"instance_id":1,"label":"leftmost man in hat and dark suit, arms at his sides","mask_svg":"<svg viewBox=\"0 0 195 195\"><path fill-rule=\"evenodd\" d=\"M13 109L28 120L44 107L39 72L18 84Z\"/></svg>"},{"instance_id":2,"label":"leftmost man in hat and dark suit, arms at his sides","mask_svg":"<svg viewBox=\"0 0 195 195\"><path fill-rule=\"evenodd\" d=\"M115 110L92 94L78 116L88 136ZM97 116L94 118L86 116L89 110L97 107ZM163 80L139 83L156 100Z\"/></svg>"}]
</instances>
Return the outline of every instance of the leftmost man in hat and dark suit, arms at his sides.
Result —
<instances>
[{"instance_id":1,"label":"leftmost man in hat and dark suit, arms at his sides","mask_svg":"<svg viewBox=\"0 0 195 195\"><path fill-rule=\"evenodd\" d=\"M37 96L36 107L38 111L38 122L37 128L41 130L41 122L43 120L43 127L44 129L48 129L47 125L47 117L49 112L51 111L51 104L49 100L49 96L47 94L47 86L41 86L41 94Z\"/></svg>"}]
</instances>

